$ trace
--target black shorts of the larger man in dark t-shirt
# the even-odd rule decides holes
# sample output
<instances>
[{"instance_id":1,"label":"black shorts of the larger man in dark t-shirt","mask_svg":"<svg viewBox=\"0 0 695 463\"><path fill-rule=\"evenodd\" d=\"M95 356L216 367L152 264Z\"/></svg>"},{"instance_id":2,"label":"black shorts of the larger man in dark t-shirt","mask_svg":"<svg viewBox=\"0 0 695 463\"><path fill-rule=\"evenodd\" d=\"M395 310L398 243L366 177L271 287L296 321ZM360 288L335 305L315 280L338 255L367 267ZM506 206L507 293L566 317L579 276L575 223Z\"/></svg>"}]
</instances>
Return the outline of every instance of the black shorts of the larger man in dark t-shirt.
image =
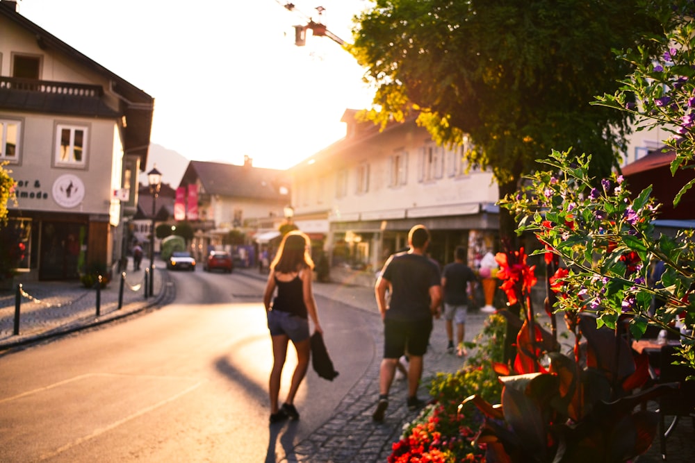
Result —
<instances>
[{"instance_id":1,"label":"black shorts of the larger man in dark t-shirt","mask_svg":"<svg viewBox=\"0 0 695 463\"><path fill-rule=\"evenodd\" d=\"M418 321L384 320L384 358L402 355L421 357L430 344L432 319Z\"/></svg>"}]
</instances>

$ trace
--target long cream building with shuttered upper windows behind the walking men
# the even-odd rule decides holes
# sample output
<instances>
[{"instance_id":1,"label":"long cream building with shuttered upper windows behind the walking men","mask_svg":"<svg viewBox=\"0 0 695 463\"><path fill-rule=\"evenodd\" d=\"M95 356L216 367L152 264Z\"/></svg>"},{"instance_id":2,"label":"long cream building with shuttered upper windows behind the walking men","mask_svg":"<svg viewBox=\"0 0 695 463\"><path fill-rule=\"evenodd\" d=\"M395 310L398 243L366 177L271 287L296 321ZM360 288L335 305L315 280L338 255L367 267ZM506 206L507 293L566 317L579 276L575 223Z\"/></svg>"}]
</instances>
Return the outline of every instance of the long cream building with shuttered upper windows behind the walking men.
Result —
<instances>
[{"instance_id":1,"label":"long cream building with shuttered upper windows behind the walking men","mask_svg":"<svg viewBox=\"0 0 695 463\"><path fill-rule=\"evenodd\" d=\"M424 224L430 256L451 262L456 246L474 264L498 242L498 188L468 169L462 149L437 146L414 119L383 131L347 110L347 136L290 169L295 223L323 239L332 267L378 271Z\"/></svg>"}]
</instances>

